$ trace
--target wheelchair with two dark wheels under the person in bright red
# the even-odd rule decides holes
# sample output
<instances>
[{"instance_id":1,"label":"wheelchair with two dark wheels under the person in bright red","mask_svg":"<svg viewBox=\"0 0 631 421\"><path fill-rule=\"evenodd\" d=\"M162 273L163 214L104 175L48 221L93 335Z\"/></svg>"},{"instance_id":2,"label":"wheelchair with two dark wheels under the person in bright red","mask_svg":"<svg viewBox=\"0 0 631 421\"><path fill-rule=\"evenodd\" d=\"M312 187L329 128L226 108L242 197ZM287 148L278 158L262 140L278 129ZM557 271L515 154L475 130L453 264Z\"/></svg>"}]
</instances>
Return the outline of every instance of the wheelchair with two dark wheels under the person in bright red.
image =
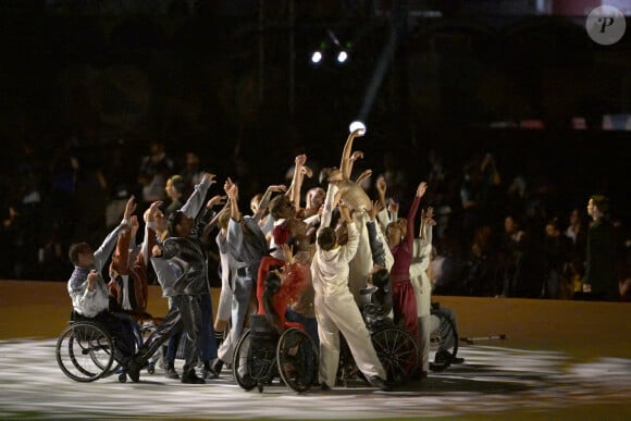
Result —
<instances>
[{"instance_id":1,"label":"wheelchair with two dark wheels under the person in bright red","mask_svg":"<svg viewBox=\"0 0 631 421\"><path fill-rule=\"evenodd\" d=\"M318 382L318 348L302 330L289 327L276 332L264 315L250 315L235 348L233 374L245 391L255 387L261 393L277 376L298 393Z\"/></svg>"}]
</instances>

